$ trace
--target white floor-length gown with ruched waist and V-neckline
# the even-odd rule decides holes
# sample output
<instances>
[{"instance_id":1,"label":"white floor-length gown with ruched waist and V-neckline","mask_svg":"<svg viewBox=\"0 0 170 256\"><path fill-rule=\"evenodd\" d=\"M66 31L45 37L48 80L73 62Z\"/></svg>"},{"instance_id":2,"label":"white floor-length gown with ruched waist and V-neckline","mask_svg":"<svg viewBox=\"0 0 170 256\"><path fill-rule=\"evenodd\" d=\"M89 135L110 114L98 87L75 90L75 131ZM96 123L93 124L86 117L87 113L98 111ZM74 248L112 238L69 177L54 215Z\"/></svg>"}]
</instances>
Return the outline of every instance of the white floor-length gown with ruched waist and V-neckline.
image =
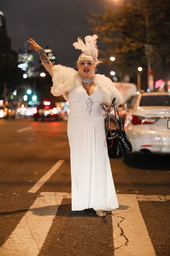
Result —
<instances>
[{"instance_id":1,"label":"white floor-length gown with ruched waist and V-neckline","mask_svg":"<svg viewBox=\"0 0 170 256\"><path fill-rule=\"evenodd\" d=\"M87 99L90 102L88 106ZM104 146L104 116L100 105L103 93L95 86L94 93L89 96L83 86L78 85L68 93L68 100L72 211L88 208L114 210L119 205L107 148Z\"/></svg>"}]
</instances>

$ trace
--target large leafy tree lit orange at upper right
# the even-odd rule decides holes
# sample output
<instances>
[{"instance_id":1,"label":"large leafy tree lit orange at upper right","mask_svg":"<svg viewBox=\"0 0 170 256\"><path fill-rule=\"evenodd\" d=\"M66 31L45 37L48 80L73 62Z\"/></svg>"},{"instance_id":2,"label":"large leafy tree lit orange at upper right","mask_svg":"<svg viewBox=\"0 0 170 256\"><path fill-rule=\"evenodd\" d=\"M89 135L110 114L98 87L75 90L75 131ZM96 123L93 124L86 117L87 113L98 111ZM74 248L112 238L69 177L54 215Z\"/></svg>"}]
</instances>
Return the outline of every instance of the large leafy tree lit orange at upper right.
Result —
<instances>
[{"instance_id":1,"label":"large leafy tree lit orange at upper right","mask_svg":"<svg viewBox=\"0 0 170 256\"><path fill-rule=\"evenodd\" d=\"M116 71L132 77L138 66L147 70L149 54L155 80L170 79L169 13L169 0L127 1L115 9L106 7L104 14L92 13L88 21L101 39L103 61L111 64L114 56Z\"/></svg>"}]
</instances>

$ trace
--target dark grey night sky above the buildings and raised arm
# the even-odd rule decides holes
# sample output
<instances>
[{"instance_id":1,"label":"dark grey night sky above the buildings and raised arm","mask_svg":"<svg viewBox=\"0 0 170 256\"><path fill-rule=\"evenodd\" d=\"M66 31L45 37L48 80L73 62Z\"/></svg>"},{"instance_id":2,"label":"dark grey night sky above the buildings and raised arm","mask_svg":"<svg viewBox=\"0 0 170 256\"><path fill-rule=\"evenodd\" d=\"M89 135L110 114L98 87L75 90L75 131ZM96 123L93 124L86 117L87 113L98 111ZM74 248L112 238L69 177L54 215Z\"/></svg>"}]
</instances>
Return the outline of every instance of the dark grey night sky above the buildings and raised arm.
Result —
<instances>
[{"instance_id":1,"label":"dark grey night sky above the buildings and raised arm","mask_svg":"<svg viewBox=\"0 0 170 256\"><path fill-rule=\"evenodd\" d=\"M58 64L75 68L81 54L73 47L77 37L92 35L86 16L90 12L104 13L104 7L114 8L116 0L5 0L0 8L6 17L12 49L18 52L31 37L56 54ZM99 40L99 39L98 39ZM26 45L26 47L28 47ZM36 64L35 64L36 65Z\"/></svg>"}]
</instances>

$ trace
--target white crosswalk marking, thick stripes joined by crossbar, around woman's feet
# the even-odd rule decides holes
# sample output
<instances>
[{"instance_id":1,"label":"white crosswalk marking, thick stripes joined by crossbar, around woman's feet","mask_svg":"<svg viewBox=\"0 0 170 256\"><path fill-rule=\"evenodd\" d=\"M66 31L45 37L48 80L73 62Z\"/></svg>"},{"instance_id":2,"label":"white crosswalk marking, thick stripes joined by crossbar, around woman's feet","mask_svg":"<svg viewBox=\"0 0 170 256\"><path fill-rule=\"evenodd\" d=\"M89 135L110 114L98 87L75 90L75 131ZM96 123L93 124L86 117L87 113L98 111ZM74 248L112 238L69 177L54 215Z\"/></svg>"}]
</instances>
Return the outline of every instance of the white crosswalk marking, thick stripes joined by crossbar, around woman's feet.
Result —
<instances>
[{"instance_id":1,"label":"white crosswalk marking, thick stripes joined by crossbar, around woman's feet","mask_svg":"<svg viewBox=\"0 0 170 256\"><path fill-rule=\"evenodd\" d=\"M117 197L119 208L112 211L114 255L155 256L138 201L166 201L170 197L136 194L117 194ZM0 255L37 256L64 198L70 199L71 193L41 192L0 248Z\"/></svg>"}]
</instances>

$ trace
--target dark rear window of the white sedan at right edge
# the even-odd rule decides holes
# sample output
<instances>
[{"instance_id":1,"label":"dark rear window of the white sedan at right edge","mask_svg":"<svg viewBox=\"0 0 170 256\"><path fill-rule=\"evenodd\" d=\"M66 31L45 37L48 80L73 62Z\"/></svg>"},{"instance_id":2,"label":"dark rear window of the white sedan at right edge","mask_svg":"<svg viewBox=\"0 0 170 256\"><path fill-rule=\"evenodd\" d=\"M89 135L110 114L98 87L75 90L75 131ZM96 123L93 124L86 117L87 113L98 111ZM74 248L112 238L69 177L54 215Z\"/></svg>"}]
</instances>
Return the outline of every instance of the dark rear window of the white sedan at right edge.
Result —
<instances>
[{"instance_id":1,"label":"dark rear window of the white sedan at right edge","mask_svg":"<svg viewBox=\"0 0 170 256\"><path fill-rule=\"evenodd\" d=\"M170 106L169 95L142 96L139 106Z\"/></svg>"}]
</instances>

